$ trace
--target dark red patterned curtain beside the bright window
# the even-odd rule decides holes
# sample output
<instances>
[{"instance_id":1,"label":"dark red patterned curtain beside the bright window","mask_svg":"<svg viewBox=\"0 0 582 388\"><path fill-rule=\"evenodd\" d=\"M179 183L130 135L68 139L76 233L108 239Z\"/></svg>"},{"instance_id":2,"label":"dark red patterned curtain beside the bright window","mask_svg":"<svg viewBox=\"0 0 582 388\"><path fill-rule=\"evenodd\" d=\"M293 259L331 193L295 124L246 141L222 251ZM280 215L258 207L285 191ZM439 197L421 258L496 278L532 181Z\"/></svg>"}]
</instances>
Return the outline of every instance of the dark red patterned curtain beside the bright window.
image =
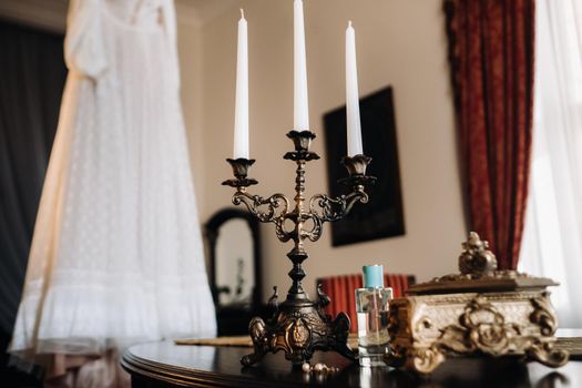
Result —
<instances>
[{"instance_id":1,"label":"dark red patterned curtain beside the bright window","mask_svg":"<svg viewBox=\"0 0 582 388\"><path fill-rule=\"evenodd\" d=\"M518 264L531 157L534 0L446 0L469 226Z\"/></svg>"}]
</instances>

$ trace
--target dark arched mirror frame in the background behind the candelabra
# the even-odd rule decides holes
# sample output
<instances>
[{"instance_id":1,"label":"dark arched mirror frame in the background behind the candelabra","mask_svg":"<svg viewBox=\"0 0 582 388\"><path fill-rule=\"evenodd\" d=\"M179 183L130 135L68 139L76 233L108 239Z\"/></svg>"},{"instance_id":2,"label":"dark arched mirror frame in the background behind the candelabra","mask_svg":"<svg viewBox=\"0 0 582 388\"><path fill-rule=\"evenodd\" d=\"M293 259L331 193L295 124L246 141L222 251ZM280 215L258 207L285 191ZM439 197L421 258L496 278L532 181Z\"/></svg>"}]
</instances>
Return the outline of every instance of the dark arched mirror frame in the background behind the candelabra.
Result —
<instances>
[{"instance_id":1,"label":"dark arched mirror frame in the background behind the candelabra","mask_svg":"<svg viewBox=\"0 0 582 388\"><path fill-rule=\"evenodd\" d=\"M261 236L258 232L258 221L253 217L248 212L241 211L238 208L226 207L216 212L204 225L206 239L208 243L208 254L210 254L210 266L211 266L211 292L214 298L214 304L216 309L231 307L229 305L221 306L218 304L218 295L216 294L216 242L218 241L218 234L221 226L231 221L231 219L244 219L248 228L251 229L251 235L253 237L253 255L254 255L254 265L255 265L255 286L253 288L253 295L251 297L251 309L261 306L262 297L262 278L261 278Z\"/></svg>"}]
</instances>

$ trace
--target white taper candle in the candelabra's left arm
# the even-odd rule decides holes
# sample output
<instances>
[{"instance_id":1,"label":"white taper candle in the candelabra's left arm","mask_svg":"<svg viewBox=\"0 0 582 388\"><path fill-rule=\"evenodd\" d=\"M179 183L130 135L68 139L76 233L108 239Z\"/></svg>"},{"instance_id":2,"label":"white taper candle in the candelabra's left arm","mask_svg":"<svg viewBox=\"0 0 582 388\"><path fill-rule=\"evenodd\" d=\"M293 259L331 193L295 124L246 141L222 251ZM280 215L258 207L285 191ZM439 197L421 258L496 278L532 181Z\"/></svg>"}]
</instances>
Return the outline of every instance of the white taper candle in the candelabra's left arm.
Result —
<instances>
[{"instance_id":1,"label":"white taper candle in the candelabra's left arm","mask_svg":"<svg viewBox=\"0 0 582 388\"><path fill-rule=\"evenodd\" d=\"M248 159L248 42L243 9L238 21L233 159Z\"/></svg>"}]
</instances>

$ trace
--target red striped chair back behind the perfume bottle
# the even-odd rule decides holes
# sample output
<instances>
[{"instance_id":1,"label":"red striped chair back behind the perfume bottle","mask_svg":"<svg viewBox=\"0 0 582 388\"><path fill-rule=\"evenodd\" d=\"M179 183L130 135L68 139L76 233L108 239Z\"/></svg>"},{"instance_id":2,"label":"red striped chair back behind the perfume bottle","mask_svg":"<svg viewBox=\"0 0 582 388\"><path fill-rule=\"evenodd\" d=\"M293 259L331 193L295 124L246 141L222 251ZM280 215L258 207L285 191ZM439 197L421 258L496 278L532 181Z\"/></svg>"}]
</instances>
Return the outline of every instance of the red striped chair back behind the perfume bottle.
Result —
<instances>
[{"instance_id":1,"label":"red striped chair back behind the perfume bottle","mask_svg":"<svg viewBox=\"0 0 582 388\"><path fill-rule=\"evenodd\" d=\"M321 290L331 298L331 303L326 308L327 314L335 318L338 313L346 313L351 320L350 331L356 333L358 329L355 289L361 288L361 274L321 277L316 284L321 284ZM404 296L408 286L413 284L412 275L384 274L384 285L392 287L395 298Z\"/></svg>"}]
</instances>

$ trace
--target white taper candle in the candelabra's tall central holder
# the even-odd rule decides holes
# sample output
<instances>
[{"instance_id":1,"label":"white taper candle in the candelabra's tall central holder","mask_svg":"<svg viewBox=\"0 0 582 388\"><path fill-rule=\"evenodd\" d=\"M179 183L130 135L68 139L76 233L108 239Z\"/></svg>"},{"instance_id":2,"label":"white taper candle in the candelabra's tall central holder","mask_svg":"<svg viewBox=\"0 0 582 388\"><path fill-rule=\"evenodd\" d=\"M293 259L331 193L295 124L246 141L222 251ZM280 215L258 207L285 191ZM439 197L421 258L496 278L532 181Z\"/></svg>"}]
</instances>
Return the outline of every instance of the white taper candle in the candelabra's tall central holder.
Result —
<instances>
[{"instance_id":1,"label":"white taper candle in the candelabra's tall central holder","mask_svg":"<svg viewBox=\"0 0 582 388\"><path fill-rule=\"evenodd\" d=\"M307 100L307 67L305 59L305 25L303 1L294 2L294 123L296 131L309 130Z\"/></svg>"}]
</instances>

